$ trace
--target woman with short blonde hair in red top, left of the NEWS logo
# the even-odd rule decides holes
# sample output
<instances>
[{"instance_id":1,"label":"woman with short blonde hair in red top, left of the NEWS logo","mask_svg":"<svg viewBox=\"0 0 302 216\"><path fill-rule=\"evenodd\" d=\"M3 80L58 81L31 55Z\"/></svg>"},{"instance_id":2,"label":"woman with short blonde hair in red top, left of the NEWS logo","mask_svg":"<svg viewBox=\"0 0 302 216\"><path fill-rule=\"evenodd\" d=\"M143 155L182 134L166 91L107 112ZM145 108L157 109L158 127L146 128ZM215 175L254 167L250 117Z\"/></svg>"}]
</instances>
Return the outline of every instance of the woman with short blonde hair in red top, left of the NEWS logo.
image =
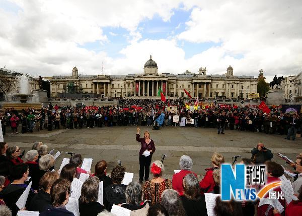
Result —
<instances>
[{"instance_id":1,"label":"woman with short blonde hair in red top, left of the NEWS logo","mask_svg":"<svg viewBox=\"0 0 302 216\"><path fill-rule=\"evenodd\" d=\"M199 182L201 192L204 193L214 192L215 181L213 178L213 171L220 168L220 165L224 163L224 157L222 154L214 152L211 157L211 162L213 167L205 169L207 172L201 182Z\"/></svg>"}]
</instances>

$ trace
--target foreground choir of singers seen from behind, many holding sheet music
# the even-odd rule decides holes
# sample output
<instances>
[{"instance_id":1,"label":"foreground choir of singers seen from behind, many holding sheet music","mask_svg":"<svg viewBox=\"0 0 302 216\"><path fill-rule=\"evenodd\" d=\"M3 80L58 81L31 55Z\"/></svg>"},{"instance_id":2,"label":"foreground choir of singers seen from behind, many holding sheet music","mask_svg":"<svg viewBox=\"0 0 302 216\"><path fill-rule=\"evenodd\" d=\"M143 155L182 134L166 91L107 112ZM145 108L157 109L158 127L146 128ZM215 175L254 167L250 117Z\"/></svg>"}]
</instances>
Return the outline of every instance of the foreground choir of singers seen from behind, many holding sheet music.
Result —
<instances>
[{"instance_id":1,"label":"foreground choir of singers seen from behind, many holding sheet music","mask_svg":"<svg viewBox=\"0 0 302 216\"><path fill-rule=\"evenodd\" d=\"M74 212L69 211L70 208L66 206L70 199L74 199L69 197L75 190L71 185L75 179L81 178L81 174L87 174L88 178L82 182L81 195L78 197L80 216L114 215L110 212L113 205L129 209L130 215L207 215L205 193L220 193L220 168L224 163L224 156L214 152L209 159L211 167L206 169L205 176L199 181L192 170L193 160L188 155L180 157L180 172L175 173L172 179L163 178L165 166L162 161L155 160L150 168L153 175L150 180L132 181L125 185L123 184L125 167L117 165L108 175L107 162L99 160L95 165L95 172L87 171L80 168L83 163L81 154L72 155L68 164L61 170L55 171L54 156L47 153L47 145L41 142L34 143L32 150L25 153L26 161L22 159L23 155L18 146L2 142L0 151L0 215L2 216L17 215L19 210L39 211L43 216L74 215ZM272 161L273 154L264 147L263 143L258 143L251 153L251 159L243 158L240 163L265 164L267 183L284 181L283 167ZM294 170L289 171L295 173L292 187L297 199L287 203L280 198L280 204L284 208L281 214L268 204L259 205L259 199L221 201L220 197L217 197L213 206L213 215L252 216L256 212L259 216L302 215L301 155L297 155L295 163L290 164ZM30 181L32 185L25 207L19 209L16 202ZM103 202L99 201L100 182L103 185ZM273 190L282 192L281 187Z\"/></svg>"}]
</instances>

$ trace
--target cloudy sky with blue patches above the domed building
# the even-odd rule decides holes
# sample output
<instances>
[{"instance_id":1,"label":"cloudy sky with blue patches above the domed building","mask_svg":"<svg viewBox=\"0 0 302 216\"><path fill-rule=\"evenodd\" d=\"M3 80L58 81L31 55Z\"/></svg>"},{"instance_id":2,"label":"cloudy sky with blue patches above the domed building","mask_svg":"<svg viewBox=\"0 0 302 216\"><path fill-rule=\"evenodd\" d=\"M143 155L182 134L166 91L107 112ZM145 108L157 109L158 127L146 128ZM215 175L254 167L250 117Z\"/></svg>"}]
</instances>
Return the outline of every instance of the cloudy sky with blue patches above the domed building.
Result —
<instances>
[{"instance_id":1,"label":"cloudy sky with blue patches above the domed building","mask_svg":"<svg viewBox=\"0 0 302 216\"><path fill-rule=\"evenodd\" d=\"M33 76L302 71L300 0L0 0L0 68Z\"/></svg>"}]
</instances>

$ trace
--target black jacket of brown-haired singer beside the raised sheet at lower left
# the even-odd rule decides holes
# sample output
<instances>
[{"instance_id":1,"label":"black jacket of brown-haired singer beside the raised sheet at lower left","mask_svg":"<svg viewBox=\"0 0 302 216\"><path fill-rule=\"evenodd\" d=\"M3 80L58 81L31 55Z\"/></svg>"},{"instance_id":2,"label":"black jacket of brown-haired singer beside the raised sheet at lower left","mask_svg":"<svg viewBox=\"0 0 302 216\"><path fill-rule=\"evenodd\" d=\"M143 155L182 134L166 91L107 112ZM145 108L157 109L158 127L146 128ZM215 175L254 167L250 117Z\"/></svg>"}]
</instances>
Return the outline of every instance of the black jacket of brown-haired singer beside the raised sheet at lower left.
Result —
<instances>
[{"instance_id":1,"label":"black jacket of brown-haired singer beside the raised sheet at lower left","mask_svg":"<svg viewBox=\"0 0 302 216\"><path fill-rule=\"evenodd\" d=\"M28 207L29 211L45 211L47 207L51 204L50 194L46 193L43 189L32 198L30 205Z\"/></svg>"}]
</instances>

